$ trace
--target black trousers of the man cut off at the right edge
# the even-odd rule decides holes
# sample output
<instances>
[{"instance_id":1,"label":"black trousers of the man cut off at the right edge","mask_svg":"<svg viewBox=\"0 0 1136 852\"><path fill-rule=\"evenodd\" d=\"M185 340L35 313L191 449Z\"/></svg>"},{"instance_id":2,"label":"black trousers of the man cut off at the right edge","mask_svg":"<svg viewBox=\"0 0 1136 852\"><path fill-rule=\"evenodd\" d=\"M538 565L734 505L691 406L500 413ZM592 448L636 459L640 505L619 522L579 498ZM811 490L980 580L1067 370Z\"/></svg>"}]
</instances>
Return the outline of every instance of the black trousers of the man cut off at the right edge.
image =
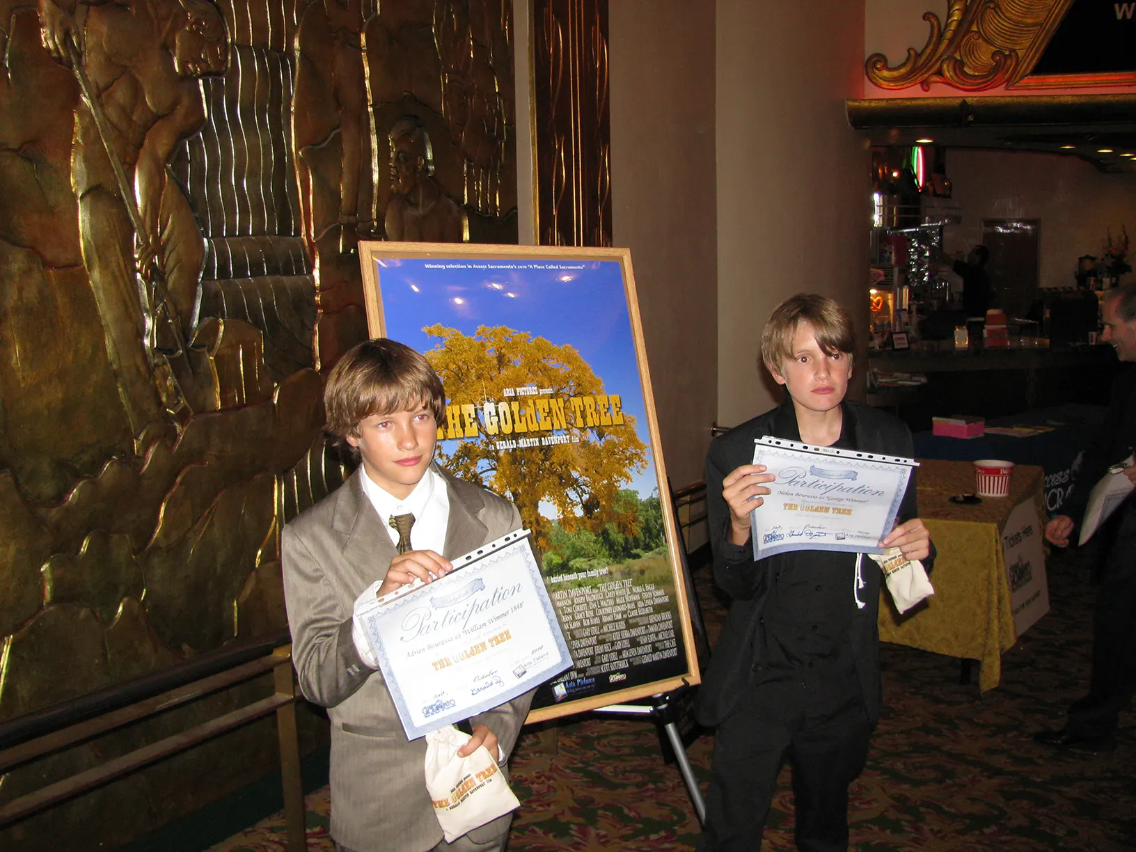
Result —
<instances>
[{"instance_id":1,"label":"black trousers of the man cut off at the right edge","mask_svg":"<svg viewBox=\"0 0 1136 852\"><path fill-rule=\"evenodd\" d=\"M1104 560L1093 610L1093 674L1088 695L1069 708L1067 728L1105 736L1136 690L1136 508L1125 507Z\"/></svg>"}]
</instances>

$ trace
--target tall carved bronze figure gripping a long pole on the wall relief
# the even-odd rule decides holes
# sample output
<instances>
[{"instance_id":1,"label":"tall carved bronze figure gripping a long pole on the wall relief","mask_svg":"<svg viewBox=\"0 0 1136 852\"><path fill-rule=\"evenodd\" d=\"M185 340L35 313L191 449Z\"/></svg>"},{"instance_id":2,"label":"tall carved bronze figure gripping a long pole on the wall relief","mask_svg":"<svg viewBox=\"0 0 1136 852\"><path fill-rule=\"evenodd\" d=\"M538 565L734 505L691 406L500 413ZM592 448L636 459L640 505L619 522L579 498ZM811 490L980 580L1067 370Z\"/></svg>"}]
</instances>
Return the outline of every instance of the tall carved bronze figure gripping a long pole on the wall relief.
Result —
<instances>
[{"instance_id":1,"label":"tall carved bronze figure gripping a long pole on the wall relief","mask_svg":"<svg viewBox=\"0 0 1136 852\"><path fill-rule=\"evenodd\" d=\"M61 2L41 0L41 37L84 89L72 152L80 239L107 356L139 438L161 419L164 402L184 404L170 385L156 385L154 366L160 353L185 364L202 241L166 162L204 124L197 77L224 72L225 25L204 0Z\"/></svg>"}]
</instances>

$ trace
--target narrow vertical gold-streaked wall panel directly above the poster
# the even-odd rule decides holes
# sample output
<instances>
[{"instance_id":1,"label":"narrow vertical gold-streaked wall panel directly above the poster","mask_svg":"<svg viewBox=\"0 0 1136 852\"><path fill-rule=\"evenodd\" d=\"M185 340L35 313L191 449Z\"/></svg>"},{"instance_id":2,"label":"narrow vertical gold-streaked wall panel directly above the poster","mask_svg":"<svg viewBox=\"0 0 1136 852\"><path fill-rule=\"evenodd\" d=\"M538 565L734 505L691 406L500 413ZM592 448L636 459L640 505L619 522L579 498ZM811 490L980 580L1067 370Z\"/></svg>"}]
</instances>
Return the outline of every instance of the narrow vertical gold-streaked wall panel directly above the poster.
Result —
<instances>
[{"instance_id":1,"label":"narrow vertical gold-streaked wall panel directly above the poster","mask_svg":"<svg viewBox=\"0 0 1136 852\"><path fill-rule=\"evenodd\" d=\"M541 245L611 245L607 0L535 0L533 112Z\"/></svg>"}]
</instances>

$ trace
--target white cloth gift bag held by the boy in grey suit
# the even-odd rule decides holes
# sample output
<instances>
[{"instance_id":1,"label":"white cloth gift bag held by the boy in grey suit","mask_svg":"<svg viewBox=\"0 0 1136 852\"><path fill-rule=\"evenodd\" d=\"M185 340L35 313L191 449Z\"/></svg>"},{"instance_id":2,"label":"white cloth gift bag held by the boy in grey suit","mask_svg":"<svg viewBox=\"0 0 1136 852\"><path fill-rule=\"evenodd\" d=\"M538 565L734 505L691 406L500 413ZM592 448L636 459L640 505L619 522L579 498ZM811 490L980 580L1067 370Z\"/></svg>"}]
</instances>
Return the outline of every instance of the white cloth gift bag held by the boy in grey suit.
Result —
<instances>
[{"instance_id":1,"label":"white cloth gift bag held by the boy in grey suit","mask_svg":"<svg viewBox=\"0 0 1136 852\"><path fill-rule=\"evenodd\" d=\"M426 790L446 843L520 807L488 749L458 757L469 740L452 725L426 734Z\"/></svg>"}]
</instances>

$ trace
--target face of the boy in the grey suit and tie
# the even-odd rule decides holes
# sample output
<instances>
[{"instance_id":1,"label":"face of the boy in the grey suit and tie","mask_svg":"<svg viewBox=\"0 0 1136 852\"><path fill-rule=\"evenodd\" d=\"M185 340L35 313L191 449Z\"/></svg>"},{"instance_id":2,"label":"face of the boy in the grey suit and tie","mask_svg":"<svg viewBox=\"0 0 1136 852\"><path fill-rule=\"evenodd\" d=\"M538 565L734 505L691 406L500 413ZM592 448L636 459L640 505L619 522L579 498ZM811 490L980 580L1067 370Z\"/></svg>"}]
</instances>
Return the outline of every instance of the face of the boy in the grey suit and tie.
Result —
<instances>
[{"instance_id":1,"label":"face of the boy in the grey suit and tie","mask_svg":"<svg viewBox=\"0 0 1136 852\"><path fill-rule=\"evenodd\" d=\"M426 474L437 443L437 423L426 406L359 421L348 443L359 450L364 470L386 493L402 500Z\"/></svg>"}]
</instances>

